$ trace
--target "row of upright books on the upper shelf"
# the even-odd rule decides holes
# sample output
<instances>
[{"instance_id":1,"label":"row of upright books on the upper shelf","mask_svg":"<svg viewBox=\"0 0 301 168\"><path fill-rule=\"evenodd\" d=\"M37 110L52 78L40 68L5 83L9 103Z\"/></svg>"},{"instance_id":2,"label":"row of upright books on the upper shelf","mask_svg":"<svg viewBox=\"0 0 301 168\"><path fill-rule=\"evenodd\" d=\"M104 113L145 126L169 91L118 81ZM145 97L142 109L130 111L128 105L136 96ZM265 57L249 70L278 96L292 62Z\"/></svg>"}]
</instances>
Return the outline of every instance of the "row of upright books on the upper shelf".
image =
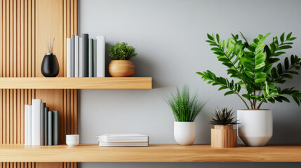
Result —
<instances>
[{"instance_id":1,"label":"row of upright books on the upper shelf","mask_svg":"<svg viewBox=\"0 0 301 168\"><path fill-rule=\"evenodd\" d=\"M67 77L105 77L105 36L67 38Z\"/></svg>"}]
</instances>

